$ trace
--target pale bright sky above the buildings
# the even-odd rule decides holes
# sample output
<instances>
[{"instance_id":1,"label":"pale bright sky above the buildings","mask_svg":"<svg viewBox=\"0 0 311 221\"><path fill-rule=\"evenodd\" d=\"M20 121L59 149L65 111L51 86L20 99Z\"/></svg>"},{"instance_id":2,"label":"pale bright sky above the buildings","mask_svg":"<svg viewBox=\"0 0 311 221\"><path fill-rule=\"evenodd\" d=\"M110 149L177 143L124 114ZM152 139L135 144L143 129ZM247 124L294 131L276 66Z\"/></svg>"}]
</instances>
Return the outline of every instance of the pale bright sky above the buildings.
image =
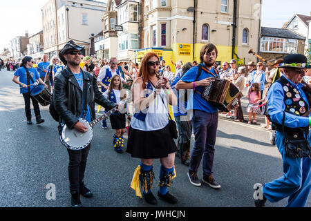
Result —
<instances>
[{"instance_id":1,"label":"pale bright sky above the buildings","mask_svg":"<svg viewBox=\"0 0 311 221\"><path fill-rule=\"evenodd\" d=\"M11 39L24 36L25 30L29 36L42 30L41 8L45 3L46 0L1 1L0 52L8 48ZM261 26L281 28L294 14L310 15L310 12L310 0L263 0Z\"/></svg>"}]
</instances>

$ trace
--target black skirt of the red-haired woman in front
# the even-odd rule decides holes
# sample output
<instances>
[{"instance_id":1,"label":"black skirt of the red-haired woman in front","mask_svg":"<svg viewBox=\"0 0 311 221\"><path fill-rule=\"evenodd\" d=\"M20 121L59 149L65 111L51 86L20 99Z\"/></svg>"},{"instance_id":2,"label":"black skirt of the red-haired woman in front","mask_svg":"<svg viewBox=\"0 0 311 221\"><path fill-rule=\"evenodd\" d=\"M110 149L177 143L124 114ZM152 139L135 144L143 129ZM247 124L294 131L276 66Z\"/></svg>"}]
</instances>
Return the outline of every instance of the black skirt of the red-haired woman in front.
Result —
<instances>
[{"instance_id":1,"label":"black skirt of the red-haired woman in front","mask_svg":"<svg viewBox=\"0 0 311 221\"><path fill-rule=\"evenodd\" d=\"M140 131L130 128L126 152L131 157L156 159L167 157L177 151L177 146L171 137L169 125L157 131Z\"/></svg>"}]
</instances>

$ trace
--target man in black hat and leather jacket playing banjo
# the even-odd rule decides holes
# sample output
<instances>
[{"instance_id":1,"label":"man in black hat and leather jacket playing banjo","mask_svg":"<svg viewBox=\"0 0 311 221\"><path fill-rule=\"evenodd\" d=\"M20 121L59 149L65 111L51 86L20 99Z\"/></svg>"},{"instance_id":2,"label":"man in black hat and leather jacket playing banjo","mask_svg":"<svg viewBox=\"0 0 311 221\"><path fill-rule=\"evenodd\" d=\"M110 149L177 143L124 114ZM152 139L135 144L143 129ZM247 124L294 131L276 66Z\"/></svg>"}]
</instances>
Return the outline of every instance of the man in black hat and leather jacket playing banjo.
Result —
<instances>
[{"instance_id":1,"label":"man in black hat and leather jacket playing banjo","mask_svg":"<svg viewBox=\"0 0 311 221\"><path fill-rule=\"evenodd\" d=\"M83 48L84 46L79 46L71 40L59 51L59 58L66 64L66 68L55 76L54 88L57 113L68 128L77 130L79 133L88 131L88 128L82 122L79 122L79 117L86 119L88 122L95 119L95 102L106 108L106 110L110 110L117 105L106 99L98 90L95 77L79 67ZM83 90L83 88L86 89ZM85 91L86 94L84 94ZM84 100L86 100L86 108L83 105ZM79 198L80 194L86 198L93 196L93 193L84 185L83 180L86 158L90 148L91 143L79 150L70 150L68 148L68 175L71 205L73 207L82 206Z\"/></svg>"}]
</instances>

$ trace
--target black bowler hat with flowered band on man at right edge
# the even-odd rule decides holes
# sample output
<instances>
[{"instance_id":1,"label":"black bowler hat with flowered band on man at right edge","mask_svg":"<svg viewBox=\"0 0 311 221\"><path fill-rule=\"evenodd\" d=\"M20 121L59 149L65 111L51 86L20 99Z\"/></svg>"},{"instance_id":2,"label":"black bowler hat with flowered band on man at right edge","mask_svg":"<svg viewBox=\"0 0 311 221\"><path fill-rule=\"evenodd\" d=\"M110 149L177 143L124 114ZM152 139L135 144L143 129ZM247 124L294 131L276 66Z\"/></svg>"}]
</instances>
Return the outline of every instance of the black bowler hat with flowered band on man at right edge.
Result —
<instances>
[{"instance_id":1,"label":"black bowler hat with flowered band on man at right edge","mask_svg":"<svg viewBox=\"0 0 311 221\"><path fill-rule=\"evenodd\" d=\"M284 57L283 63L279 68L310 68L308 59L305 55L291 54Z\"/></svg>"}]
</instances>

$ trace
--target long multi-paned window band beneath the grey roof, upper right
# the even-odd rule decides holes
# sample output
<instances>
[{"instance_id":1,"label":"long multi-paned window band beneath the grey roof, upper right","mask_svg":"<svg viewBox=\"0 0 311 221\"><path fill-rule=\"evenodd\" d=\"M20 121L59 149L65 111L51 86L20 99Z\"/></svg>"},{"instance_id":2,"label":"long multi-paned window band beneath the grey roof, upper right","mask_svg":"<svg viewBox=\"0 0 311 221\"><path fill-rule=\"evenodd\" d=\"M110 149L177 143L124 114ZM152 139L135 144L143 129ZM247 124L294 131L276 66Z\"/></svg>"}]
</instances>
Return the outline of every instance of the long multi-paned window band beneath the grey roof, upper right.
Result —
<instances>
[{"instance_id":1,"label":"long multi-paned window band beneath the grey roof, upper right","mask_svg":"<svg viewBox=\"0 0 311 221\"><path fill-rule=\"evenodd\" d=\"M261 52L296 53L298 40L275 37L261 38Z\"/></svg>"}]
</instances>

